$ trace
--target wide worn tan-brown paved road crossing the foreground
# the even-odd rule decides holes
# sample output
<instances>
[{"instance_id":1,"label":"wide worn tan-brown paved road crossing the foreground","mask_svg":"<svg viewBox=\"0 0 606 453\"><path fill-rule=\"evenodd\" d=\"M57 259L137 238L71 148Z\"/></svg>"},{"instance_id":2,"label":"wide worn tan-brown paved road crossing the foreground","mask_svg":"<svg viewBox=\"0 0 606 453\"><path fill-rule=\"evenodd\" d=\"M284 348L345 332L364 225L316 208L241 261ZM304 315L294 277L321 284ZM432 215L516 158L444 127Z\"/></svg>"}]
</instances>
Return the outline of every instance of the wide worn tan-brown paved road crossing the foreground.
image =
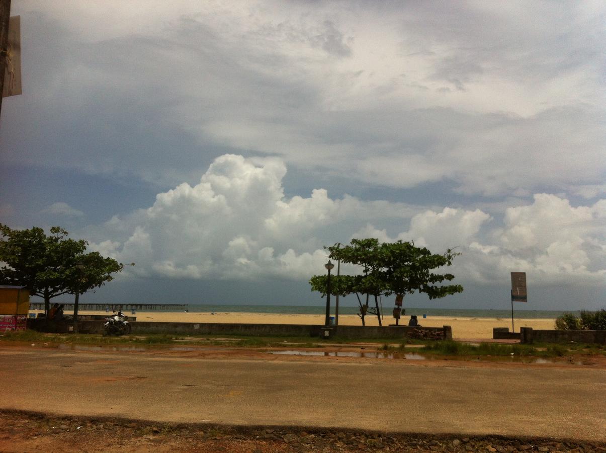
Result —
<instances>
[{"instance_id":1,"label":"wide worn tan-brown paved road crossing the foreground","mask_svg":"<svg viewBox=\"0 0 606 453\"><path fill-rule=\"evenodd\" d=\"M0 347L1 408L606 440L606 371Z\"/></svg>"}]
</instances>

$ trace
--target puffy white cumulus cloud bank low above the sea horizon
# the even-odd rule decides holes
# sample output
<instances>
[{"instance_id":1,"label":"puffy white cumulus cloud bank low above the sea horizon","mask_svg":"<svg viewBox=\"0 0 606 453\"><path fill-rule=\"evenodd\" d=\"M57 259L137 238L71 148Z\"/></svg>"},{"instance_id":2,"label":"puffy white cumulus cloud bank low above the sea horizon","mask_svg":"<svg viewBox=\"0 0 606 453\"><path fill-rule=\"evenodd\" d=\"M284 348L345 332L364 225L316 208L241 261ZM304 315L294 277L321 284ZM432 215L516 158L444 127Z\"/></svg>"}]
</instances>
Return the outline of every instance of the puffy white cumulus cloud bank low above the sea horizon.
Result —
<instances>
[{"instance_id":1,"label":"puffy white cumulus cloud bank low above the sea horizon","mask_svg":"<svg viewBox=\"0 0 606 453\"><path fill-rule=\"evenodd\" d=\"M499 221L480 209L331 199L324 189L287 198L285 173L279 159L220 156L199 184L180 184L147 209L114 216L92 247L135 261L127 272L141 277L307 279L322 270L322 246L352 237L414 240L435 253L458 247L453 270L464 281L521 271L544 283L599 284L606 275L606 200L574 207L541 193ZM390 235L386 223L399 232L391 227Z\"/></svg>"}]
</instances>

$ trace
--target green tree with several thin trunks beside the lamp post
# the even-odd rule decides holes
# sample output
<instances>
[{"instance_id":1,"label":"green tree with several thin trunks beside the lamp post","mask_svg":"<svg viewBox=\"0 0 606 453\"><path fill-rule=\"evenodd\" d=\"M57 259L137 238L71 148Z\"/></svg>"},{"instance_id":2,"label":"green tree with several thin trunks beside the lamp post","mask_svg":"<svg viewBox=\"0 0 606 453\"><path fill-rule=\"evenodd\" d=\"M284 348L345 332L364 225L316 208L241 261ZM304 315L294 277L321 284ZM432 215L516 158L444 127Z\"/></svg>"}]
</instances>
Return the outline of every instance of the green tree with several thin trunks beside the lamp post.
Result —
<instances>
[{"instance_id":1,"label":"green tree with several thin trunks beside the lamp post","mask_svg":"<svg viewBox=\"0 0 606 453\"><path fill-rule=\"evenodd\" d=\"M455 257L460 253L448 249L442 255L431 253L425 247L416 247L412 241L396 241L395 243L379 243L375 238L353 239L350 245L335 244L325 247L330 252L331 260L341 260L359 266L362 274L356 276L341 276L343 282L331 278L331 294L366 294L366 303L361 307L362 324L368 310L368 295L375 298L376 314L379 315L377 298L381 295L396 294L404 298L414 292L425 293L430 299L442 298L450 294L462 292L459 284L441 284L451 281L451 273L435 273L434 269L451 266ZM310 280L311 290L326 292L326 277L314 276ZM379 318L379 325L381 319Z\"/></svg>"}]
</instances>

